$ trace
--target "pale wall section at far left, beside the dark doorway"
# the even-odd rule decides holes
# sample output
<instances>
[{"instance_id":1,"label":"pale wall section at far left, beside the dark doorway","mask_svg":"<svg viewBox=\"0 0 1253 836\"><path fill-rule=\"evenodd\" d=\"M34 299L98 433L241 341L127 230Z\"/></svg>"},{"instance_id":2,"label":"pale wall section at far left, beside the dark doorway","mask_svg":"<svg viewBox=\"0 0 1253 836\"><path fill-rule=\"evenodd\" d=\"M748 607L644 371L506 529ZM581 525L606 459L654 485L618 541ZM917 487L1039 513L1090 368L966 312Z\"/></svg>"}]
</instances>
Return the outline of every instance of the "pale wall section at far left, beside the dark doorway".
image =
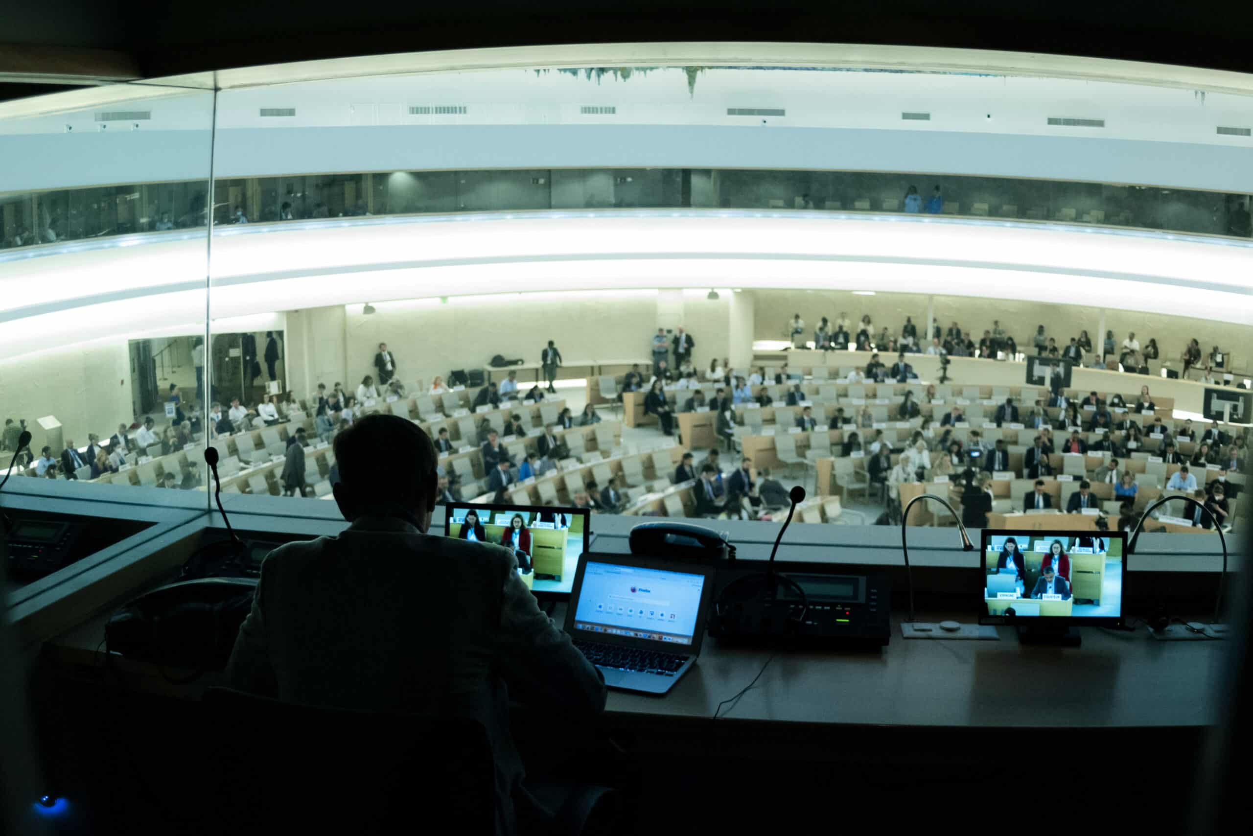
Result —
<instances>
[{"instance_id":1,"label":"pale wall section at far left, beside the dark doorway","mask_svg":"<svg viewBox=\"0 0 1253 836\"><path fill-rule=\"evenodd\" d=\"M134 420L127 341L0 360L0 404L4 405L0 421L26 419L30 449L36 457L46 444L36 419L46 415L61 422L61 437L73 439L76 446L86 444L88 432L107 439L118 424Z\"/></svg>"}]
</instances>

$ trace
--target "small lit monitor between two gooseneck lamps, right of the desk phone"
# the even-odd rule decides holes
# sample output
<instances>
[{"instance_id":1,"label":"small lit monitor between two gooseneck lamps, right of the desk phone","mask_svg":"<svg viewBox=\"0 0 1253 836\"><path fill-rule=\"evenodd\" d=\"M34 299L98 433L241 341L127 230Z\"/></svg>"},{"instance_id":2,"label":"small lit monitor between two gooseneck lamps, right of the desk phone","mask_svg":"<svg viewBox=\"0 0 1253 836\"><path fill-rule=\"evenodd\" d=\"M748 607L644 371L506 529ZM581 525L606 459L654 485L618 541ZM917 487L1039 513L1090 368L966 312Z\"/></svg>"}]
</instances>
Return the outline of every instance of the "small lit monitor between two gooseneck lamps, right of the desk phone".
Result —
<instances>
[{"instance_id":1,"label":"small lit monitor between two gooseneck lamps, right of the desk phone","mask_svg":"<svg viewBox=\"0 0 1253 836\"><path fill-rule=\"evenodd\" d=\"M984 529L980 624L1121 624L1126 531Z\"/></svg>"}]
</instances>

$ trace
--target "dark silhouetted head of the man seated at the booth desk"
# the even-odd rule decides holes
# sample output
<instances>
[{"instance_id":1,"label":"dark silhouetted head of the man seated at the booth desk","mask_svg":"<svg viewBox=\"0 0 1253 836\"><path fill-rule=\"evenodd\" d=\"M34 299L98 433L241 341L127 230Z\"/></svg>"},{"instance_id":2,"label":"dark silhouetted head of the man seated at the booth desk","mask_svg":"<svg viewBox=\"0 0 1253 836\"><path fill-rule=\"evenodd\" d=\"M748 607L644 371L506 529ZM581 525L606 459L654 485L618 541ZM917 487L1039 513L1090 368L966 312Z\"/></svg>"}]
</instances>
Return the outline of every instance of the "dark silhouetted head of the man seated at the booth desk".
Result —
<instances>
[{"instance_id":1,"label":"dark silhouetted head of the man seated at the booth desk","mask_svg":"<svg viewBox=\"0 0 1253 836\"><path fill-rule=\"evenodd\" d=\"M378 451L386 450L386 456ZM340 481L335 501L346 520L368 513L431 525L436 499L435 445L416 424L398 415L367 415L335 436Z\"/></svg>"}]
</instances>

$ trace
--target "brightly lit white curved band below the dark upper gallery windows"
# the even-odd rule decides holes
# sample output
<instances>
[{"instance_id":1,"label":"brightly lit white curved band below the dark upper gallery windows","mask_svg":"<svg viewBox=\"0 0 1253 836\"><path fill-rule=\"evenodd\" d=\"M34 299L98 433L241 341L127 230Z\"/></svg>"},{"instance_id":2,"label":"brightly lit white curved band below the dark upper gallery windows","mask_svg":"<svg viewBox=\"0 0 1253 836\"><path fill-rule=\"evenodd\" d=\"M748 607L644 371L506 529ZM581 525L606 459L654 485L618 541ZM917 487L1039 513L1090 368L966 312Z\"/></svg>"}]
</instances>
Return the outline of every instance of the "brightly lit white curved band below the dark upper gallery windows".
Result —
<instances>
[{"instance_id":1,"label":"brightly lit white curved band below the dark upper gallery windows","mask_svg":"<svg viewBox=\"0 0 1253 836\"><path fill-rule=\"evenodd\" d=\"M732 211L540 212L226 227L212 316L519 291L933 292L1253 321L1253 246L1085 227ZM162 241L157 236L149 237ZM203 241L10 262L4 356L200 322ZM194 327L193 327L194 331Z\"/></svg>"}]
</instances>

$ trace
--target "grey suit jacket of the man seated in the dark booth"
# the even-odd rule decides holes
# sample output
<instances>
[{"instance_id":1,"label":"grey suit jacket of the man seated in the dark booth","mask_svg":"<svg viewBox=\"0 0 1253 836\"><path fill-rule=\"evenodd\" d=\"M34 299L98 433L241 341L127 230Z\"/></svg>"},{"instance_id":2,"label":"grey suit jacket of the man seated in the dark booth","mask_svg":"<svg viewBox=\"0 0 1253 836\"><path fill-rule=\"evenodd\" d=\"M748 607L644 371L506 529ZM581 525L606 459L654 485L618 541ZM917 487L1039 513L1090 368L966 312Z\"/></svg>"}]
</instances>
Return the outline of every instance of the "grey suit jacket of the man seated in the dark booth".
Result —
<instances>
[{"instance_id":1,"label":"grey suit jacket of the man seated in the dark booth","mask_svg":"<svg viewBox=\"0 0 1253 836\"><path fill-rule=\"evenodd\" d=\"M600 671L516 569L510 549L421 534L395 518L289 543L262 563L227 684L287 702L481 721L496 761L496 832L507 836L525 775L509 701L536 718L579 721L603 712L606 696Z\"/></svg>"}]
</instances>

